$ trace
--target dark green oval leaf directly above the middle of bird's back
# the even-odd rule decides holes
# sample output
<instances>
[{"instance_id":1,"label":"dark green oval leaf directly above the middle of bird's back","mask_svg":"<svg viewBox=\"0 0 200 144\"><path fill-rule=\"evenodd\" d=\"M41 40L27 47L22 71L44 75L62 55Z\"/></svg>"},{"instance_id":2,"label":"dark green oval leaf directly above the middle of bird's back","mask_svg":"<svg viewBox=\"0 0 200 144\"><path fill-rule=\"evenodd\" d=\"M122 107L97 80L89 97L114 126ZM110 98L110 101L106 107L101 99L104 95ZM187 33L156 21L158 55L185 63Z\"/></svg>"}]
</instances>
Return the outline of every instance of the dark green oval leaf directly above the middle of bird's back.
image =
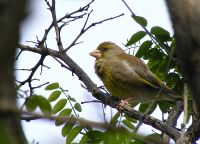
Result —
<instances>
[{"instance_id":1,"label":"dark green oval leaf directly above the middle of bird's back","mask_svg":"<svg viewBox=\"0 0 200 144\"><path fill-rule=\"evenodd\" d=\"M152 44L153 43L151 41L149 41L149 40L144 41L142 43L142 45L140 46L140 48L138 49L138 51L137 51L135 56L139 57L139 58L143 57L149 51L149 49L151 48Z\"/></svg>"}]
</instances>

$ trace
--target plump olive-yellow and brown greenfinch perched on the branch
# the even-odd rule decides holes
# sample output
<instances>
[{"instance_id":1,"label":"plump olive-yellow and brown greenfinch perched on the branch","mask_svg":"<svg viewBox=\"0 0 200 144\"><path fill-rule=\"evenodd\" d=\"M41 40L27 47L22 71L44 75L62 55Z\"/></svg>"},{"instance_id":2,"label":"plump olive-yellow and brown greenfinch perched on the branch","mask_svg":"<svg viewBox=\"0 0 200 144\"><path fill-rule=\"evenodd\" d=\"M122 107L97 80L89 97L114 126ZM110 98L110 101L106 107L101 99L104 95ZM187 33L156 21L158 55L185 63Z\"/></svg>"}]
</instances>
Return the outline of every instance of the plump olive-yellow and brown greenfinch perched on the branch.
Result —
<instances>
[{"instance_id":1,"label":"plump olive-yellow and brown greenfinch perched on the branch","mask_svg":"<svg viewBox=\"0 0 200 144\"><path fill-rule=\"evenodd\" d=\"M90 55L96 59L95 72L111 96L134 102L177 99L142 60L116 44L103 42Z\"/></svg>"}]
</instances>

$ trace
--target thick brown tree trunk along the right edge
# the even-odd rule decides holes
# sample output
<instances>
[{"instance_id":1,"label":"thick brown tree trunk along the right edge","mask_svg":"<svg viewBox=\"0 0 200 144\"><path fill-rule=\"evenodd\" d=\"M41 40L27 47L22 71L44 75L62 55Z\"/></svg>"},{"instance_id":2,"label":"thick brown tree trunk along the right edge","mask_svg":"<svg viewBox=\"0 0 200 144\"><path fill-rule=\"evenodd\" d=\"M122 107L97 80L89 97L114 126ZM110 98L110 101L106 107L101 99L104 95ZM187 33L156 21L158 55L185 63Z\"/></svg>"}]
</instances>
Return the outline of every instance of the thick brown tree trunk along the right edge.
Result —
<instances>
[{"instance_id":1,"label":"thick brown tree trunk along the right edge","mask_svg":"<svg viewBox=\"0 0 200 144\"><path fill-rule=\"evenodd\" d=\"M176 37L176 49L193 98L193 124L177 143L194 143L200 133L200 1L166 0Z\"/></svg>"}]
</instances>

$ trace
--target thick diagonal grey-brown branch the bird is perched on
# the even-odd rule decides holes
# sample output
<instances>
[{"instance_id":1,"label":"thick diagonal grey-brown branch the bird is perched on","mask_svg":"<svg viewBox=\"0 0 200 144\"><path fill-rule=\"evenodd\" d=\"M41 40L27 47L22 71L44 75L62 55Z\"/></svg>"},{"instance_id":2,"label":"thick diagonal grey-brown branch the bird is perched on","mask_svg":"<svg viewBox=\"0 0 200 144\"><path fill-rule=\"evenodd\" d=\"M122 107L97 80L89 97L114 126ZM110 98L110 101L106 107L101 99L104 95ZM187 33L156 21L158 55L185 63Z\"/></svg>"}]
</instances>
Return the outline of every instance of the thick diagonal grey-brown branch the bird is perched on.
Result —
<instances>
[{"instance_id":1,"label":"thick diagonal grey-brown branch the bird is perched on","mask_svg":"<svg viewBox=\"0 0 200 144\"><path fill-rule=\"evenodd\" d=\"M62 60L65 64L67 64L73 70L73 73L75 73L78 76L79 80L81 80L85 84L85 86L87 87L87 90L91 92L92 95L96 99L100 100L104 104L107 104L113 108L116 108L117 102L115 100L109 99L110 97L109 94L102 92L97 87L97 85L93 83L93 81L89 78L89 76L67 54L59 53L58 51L55 51L49 48L38 49L38 48L33 48L29 46L24 46L24 45L18 45L18 48L20 48L21 50L36 52L39 54L46 53L47 55L53 55L54 57ZM176 140L180 136L180 133L175 128L168 126L164 122L154 117L141 114L140 112L132 109L129 106L125 106L122 112L126 113L128 116L133 117L137 120L141 120L145 124L151 125L152 127L169 135L174 140Z\"/></svg>"}]
</instances>

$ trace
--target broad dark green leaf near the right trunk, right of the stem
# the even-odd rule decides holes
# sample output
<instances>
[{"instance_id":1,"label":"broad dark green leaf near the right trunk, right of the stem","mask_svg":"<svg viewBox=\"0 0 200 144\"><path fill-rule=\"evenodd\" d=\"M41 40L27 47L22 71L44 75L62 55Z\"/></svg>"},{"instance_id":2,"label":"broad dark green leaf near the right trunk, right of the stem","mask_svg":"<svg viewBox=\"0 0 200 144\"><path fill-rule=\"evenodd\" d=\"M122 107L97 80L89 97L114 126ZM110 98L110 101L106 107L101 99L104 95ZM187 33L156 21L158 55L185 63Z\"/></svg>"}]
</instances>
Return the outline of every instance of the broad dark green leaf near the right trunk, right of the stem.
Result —
<instances>
[{"instance_id":1,"label":"broad dark green leaf near the right trunk, right of the stem","mask_svg":"<svg viewBox=\"0 0 200 144\"><path fill-rule=\"evenodd\" d=\"M159 26L154 26L151 28L151 31L150 31L153 35L155 35L155 37L162 41L162 42L166 42L168 40L171 39L170 37L170 33L163 29L162 27L159 27Z\"/></svg>"}]
</instances>

